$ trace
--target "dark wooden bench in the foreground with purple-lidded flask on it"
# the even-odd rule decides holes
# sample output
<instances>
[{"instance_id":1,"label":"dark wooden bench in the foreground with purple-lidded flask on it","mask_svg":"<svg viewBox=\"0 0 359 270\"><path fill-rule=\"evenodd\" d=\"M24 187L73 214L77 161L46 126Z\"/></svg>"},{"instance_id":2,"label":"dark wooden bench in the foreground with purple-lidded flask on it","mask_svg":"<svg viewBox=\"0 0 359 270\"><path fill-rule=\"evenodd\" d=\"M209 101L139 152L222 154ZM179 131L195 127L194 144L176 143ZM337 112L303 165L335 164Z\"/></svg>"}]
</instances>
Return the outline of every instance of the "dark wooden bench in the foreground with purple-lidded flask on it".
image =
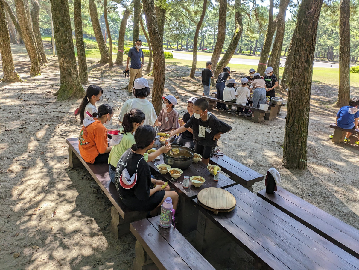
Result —
<instances>
[{"instance_id":1,"label":"dark wooden bench in the foreground with purple-lidded flask on it","mask_svg":"<svg viewBox=\"0 0 359 270\"><path fill-rule=\"evenodd\" d=\"M136 237L134 269L214 270L209 262L177 229L159 226L159 217L132 222L130 230ZM152 269L152 268L150 268Z\"/></svg>"}]
</instances>

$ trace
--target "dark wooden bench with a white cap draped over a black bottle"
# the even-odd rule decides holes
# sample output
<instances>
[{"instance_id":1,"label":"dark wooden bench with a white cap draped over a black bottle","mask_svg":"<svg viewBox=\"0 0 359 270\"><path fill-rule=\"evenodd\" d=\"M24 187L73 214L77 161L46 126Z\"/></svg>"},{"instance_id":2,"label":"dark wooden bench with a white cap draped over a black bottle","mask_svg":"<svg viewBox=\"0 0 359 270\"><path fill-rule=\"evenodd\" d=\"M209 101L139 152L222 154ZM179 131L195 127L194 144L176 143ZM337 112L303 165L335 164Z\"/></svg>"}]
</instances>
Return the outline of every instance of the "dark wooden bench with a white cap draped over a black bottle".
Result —
<instances>
[{"instance_id":1,"label":"dark wooden bench with a white cap draped over a black bottle","mask_svg":"<svg viewBox=\"0 0 359 270\"><path fill-rule=\"evenodd\" d=\"M328 241L359 258L359 230L281 187L277 187L277 192L274 194L267 194L263 189L257 195Z\"/></svg>"}]
</instances>

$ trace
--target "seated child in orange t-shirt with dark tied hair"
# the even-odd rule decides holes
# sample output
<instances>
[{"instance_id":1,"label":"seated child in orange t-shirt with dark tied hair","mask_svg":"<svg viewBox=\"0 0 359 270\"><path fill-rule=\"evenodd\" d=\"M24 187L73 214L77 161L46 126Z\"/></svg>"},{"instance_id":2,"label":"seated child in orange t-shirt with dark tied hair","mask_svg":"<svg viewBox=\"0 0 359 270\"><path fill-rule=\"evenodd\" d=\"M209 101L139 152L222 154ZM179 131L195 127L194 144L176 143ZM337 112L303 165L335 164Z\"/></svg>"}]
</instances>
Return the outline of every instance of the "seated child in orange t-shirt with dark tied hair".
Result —
<instances>
[{"instance_id":1,"label":"seated child in orange t-shirt with dark tied hair","mask_svg":"<svg viewBox=\"0 0 359 270\"><path fill-rule=\"evenodd\" d=\"M88 116L91 115L88 113ZM108 146L107 129L103 124L112 122L112 107L102 104L92 117L84 118L84 125L79 137L80 154L88 163L107 163L111 146Z\"/></svg>"}]
</instances>

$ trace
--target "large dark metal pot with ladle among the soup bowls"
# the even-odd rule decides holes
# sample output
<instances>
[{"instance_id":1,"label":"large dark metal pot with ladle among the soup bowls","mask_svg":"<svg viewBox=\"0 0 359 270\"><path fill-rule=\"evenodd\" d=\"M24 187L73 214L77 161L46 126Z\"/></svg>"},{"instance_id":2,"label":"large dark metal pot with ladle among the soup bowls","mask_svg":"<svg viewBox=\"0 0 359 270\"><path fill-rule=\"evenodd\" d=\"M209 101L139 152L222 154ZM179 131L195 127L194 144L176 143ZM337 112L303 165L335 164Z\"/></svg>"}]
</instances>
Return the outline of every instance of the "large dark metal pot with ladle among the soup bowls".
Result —
<instances>
[{"instance_id":1,"label":"large dark metal pot with ladle among the soup bowls","mask_svg":"<svg viewBox=\"0 0 359 270\"><path fill-rule=\"evenodd\" d=\"M181 170L188 169L188 167L191 166L193 157L195 156L195 151L191 148L178 145L177 143L172 143L172 150L175 148L180 149L180 152L176 155L171 155L169 151L162 154L164 164L171 166L171 168L178 168Z\"/></svg>"}]
</instances>

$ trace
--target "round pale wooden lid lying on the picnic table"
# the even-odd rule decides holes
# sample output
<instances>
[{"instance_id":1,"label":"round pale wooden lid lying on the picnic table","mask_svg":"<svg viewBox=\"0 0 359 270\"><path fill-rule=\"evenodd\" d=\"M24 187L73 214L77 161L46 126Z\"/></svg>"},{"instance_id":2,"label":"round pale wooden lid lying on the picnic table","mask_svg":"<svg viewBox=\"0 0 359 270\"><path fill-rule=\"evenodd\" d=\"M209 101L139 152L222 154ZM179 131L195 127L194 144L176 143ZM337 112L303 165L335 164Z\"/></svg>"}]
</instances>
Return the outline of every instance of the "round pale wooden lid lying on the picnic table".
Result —
<instances>
[{"instance_id":1,"label":"round pale wooden lid lying on the picnic table","mask_svg":"<svg viewBox=\"0 0 359 270\"><path fill-rule=\"evenodd\" d=\"M236 206L236 198L222 188L204 188L197 196L197 200L211 209L227 210Z\"/></svg>"}]
</instances>

